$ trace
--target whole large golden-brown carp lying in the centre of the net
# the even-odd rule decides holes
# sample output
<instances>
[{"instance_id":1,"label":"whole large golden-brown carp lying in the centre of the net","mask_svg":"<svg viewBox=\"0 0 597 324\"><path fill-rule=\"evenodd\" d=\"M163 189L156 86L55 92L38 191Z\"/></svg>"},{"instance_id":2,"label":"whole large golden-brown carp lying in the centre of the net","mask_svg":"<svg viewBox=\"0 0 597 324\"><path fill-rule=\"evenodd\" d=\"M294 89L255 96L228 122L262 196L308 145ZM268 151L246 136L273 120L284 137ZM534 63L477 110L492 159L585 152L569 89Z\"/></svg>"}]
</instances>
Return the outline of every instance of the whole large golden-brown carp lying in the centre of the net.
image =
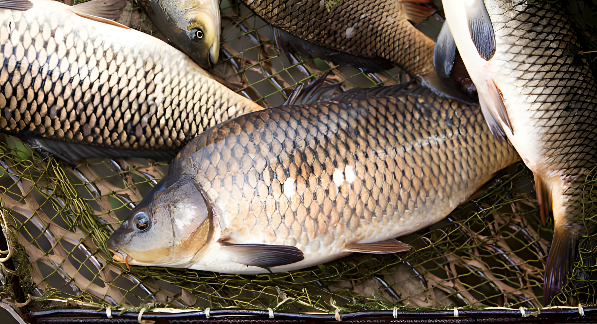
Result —
<instances>
[{"instance_id":1,"label":"whole large golden-brown carp lying in the centre of the net","mask_svg":"<svg viewBox=\"0 0 597 324\"><path fill-rule=\"evenodd\" d=\"M518 161L476 105L354 88L244 114L193 139L107 240L127 266L285 272L399 253Z\"/></svg>"}]
</instances>

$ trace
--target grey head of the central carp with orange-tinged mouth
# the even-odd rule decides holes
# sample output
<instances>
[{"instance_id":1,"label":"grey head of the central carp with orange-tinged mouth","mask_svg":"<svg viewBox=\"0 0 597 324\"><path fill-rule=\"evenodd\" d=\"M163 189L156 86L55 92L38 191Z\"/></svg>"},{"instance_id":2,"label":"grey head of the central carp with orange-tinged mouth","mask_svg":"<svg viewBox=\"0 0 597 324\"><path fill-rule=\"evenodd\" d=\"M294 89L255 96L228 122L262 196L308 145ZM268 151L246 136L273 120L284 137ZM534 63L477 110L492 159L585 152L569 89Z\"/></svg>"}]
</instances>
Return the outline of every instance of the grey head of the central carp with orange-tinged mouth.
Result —
<instances>
[{"instance_id":1,"label":"grey head of the central carp with orange-tinged mouth","mask_svg":"<svg viewBox=\"0 0 597 324\"><path fill-rule=\"evenodd\" d=\"M131 211L107 246L116 261L184 267L210 241L213 213L190 179L149 196Z\"/></svg>"}]
</instances>

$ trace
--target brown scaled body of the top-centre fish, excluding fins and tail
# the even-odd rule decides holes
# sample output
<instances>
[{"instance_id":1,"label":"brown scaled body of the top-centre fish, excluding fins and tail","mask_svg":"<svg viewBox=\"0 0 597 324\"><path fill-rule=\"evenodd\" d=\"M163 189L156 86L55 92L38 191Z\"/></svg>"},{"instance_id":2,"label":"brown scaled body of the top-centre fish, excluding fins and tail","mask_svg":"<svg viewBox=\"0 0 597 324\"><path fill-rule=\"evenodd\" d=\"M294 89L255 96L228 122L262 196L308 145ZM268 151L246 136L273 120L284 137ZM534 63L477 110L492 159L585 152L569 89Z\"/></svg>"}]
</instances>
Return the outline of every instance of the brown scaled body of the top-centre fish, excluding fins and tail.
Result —
<instances>
[{"instance_id":1,"label":"brown scaled body of the top-centre fish, excluding fins and tail","mask_svg":"<svg viewBox=\"0 0 597 324\"><path fill-rule=\"evenodd\" d=\"M433 70L435 42L407 20L400 1L340 0L329 13L320 0L243 2L272 26L316 45L385 58L413 74Z\"/></svg>"}]
</instances>

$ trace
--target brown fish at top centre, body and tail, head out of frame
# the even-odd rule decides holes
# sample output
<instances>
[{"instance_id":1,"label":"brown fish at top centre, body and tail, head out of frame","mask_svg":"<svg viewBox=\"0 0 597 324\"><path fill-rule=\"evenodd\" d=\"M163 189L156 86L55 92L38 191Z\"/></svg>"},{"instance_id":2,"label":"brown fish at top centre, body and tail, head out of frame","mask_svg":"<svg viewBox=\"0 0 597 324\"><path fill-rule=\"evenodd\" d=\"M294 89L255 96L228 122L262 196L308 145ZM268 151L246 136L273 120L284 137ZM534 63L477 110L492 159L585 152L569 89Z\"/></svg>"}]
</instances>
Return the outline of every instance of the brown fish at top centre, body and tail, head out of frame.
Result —
<instances>
[{"instance_id":1,"label":"brown fish at top centre, body and tail, head out of frame","mask_svg":"<svg viewBox=\"0 0 597 324\"><path fill-rule=\"evenodd\" d=\"M472 82L440 78L433 66L435 42L417 30L435 9L428 0L243 0L257 16L275 27L284 52L370 71L394 65L416 76L436 94L475 104ZM272 10L275 8L275 10ZM413 23L411 23L411 21ZM462 69L466 74L466 69Z\"/></svg>"}]
</instances>

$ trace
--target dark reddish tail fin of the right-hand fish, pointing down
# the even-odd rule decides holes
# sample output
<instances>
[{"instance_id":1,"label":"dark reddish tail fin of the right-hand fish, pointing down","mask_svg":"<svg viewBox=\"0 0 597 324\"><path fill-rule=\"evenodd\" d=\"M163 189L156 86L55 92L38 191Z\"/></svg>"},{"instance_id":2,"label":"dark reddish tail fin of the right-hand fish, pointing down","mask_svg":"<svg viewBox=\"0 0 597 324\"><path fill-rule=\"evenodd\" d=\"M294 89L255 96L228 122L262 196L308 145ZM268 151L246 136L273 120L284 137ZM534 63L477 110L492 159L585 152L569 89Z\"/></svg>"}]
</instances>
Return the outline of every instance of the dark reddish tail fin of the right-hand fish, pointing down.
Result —
<instances>
[{"instance_id":1,"label":"dark reddish tail fin of the right-hand fish, pointing down","mask_svg":"<svg viewBox=\"0 0 597 324\"><path fill-rule=\"evenodd\" d=\"M553 297L559 294L567 281L566 276L574 262L577 241L573 230L556 224L543 281L543 298L546 305L549 305Z\"/></svg>"}]
</instances>

